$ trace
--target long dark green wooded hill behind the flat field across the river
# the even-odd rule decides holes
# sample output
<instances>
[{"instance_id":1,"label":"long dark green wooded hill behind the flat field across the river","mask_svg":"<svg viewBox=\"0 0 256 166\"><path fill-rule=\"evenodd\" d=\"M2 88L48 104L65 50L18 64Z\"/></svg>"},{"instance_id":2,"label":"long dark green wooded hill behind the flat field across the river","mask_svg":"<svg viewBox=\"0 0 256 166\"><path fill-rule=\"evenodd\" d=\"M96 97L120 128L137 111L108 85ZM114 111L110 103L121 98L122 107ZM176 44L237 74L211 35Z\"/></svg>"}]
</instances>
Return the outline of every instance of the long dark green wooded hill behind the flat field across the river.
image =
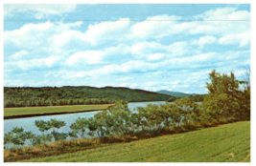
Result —
<instances>
[{"instance_id":1,"label":"long dark green wooded hill behind the flat field across the river","mask_svg":"<svg viewBox=\"0 0 256 166\"><path fill-rule=\"evenodd\" d=\"M168 101L174 96L123 87L4 87L4 107L31 107L81 104L109 104L123 99L128 102Z\"/></svg>"}]
</instances>

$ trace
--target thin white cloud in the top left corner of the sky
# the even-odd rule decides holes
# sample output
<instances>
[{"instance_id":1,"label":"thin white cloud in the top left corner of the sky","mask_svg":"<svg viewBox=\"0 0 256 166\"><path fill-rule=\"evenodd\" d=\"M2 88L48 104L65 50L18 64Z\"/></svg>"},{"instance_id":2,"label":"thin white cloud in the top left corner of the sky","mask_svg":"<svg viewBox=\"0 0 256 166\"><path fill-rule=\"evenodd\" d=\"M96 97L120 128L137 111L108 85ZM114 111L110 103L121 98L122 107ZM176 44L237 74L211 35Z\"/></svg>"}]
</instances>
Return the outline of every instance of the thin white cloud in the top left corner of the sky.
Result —
<instances>
[{"instance_id":1,"label":"thin white cloud in the top left corner of the sky","mask_svg":"<svg viewBox=\"0 0 256 166\"><path fill-rule=\"evenodd\" d=\"M35 18L40 19L49 15L62 15L76 10L76 4L5 4L4 16L10 17L16 13L35 11Z\"/></svg>"}]
</instances>

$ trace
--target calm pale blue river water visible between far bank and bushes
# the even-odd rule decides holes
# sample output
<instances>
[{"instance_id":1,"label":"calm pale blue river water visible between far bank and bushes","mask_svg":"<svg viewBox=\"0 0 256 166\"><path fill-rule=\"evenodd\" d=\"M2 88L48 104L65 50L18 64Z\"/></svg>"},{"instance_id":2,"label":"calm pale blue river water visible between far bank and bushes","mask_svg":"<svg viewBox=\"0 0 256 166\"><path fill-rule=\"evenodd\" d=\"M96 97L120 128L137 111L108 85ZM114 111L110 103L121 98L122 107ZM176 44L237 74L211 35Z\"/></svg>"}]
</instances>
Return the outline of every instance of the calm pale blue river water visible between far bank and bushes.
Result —
<instances>
[{"instance_id":1,"label":"calm pale blue river water visible between far bank and bushes","mask_svg":"<svg viewBox=\"0 0 256 166\"><path fill-rule=\"evenodd\" d=\"M154 102L134 102L128 103L128 108L130 111L133 111L137 107L146 107L147 104L164 104L165 101L154 101ZM64 120L66 125L58 130L58 132L67 133L70 130L69 126L74 123L79 117L93 117L94 114L97 114L101 111L88 112L88 113L78 113L78 114L58 114L58 115L46 115L46 116L37 116L37 117L25 117L25 118L16 118L16 119L6 119L4 120L4 134L7 134L12 131L14 127L22 127L24 131L31 131L35 135L40 135L41 133L35 127L35 120L50 120L51 118L56 118L58 120Z\"/></svg>"}]
</instances>

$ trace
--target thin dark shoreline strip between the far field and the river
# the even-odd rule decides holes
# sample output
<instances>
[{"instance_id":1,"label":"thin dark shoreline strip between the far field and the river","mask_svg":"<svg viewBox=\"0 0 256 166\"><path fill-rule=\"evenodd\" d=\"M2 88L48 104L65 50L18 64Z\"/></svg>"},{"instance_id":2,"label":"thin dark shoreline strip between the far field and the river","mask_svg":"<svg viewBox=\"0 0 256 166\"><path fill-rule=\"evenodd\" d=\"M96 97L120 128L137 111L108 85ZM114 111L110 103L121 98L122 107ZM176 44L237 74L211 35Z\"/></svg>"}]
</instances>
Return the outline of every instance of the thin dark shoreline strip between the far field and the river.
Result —
<instances>
[{"instance_id":1,"label":"thin dark shoreline strip between the far field and the river","mask_svg":"<svg viewBox=\"0 0 256 166\"><path fill-rule=\"evenodd\" d=\"M45 115L77 114L77 113L87 113L87 112L96 112L96 111L106 111L106 110L108 110L110 107L113 107L113 106L108 106L106 109L101 109L101 110L86 110L86 111L77 111L77 112L60 112L60 113L45 113L45 114L18 114L18 115L9 115L9 116L4 116L4 120L15 119L15 118L26 118L26 117L45 116Z\"/></svg>"}]
</instances>

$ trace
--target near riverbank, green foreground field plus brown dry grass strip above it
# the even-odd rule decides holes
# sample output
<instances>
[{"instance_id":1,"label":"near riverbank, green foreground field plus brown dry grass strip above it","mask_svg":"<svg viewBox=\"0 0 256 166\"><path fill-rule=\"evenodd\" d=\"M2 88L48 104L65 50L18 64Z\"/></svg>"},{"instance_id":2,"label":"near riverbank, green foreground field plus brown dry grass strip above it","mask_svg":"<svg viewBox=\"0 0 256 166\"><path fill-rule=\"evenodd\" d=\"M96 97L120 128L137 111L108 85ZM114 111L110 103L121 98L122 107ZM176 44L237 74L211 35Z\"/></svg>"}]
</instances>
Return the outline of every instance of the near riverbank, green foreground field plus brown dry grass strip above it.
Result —
<instances>
[{"instance_id":1,"label":"near riverbank, green foreground field plus brown dry grass strip above it","mask_svg":"<svg viewBox=\"0 0 256 166\"><path fill-rule=\"evenodd\" d=\"M160 132L158 135L141 133L109 137L104 140L85 138L56 142L31 148L6 150L4 160L5 162L249 162L250 121L223 121L183 126L164 133Z\"/></svg>"}]
</instances>

